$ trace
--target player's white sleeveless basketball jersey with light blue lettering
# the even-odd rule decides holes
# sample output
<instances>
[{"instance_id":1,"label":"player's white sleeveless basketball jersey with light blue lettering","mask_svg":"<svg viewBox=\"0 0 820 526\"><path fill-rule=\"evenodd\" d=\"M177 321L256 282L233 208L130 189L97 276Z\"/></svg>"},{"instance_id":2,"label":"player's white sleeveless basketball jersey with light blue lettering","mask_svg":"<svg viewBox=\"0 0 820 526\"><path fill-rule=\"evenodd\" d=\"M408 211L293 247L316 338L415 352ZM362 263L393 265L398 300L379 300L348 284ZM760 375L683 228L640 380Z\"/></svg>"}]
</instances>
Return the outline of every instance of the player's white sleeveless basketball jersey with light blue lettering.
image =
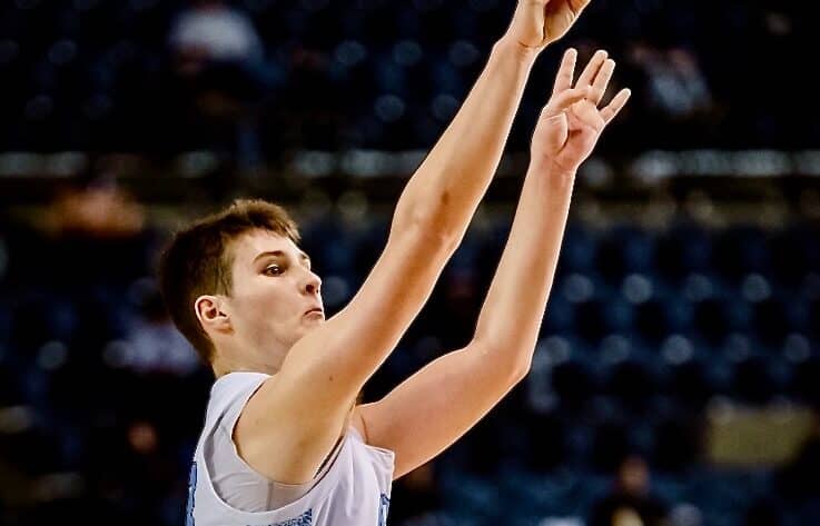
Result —
<instances>
[{"instance_id":1,"label":"player's white sleeveless basketball jersey with light blue lettering","mask_svg":"<svg viewBox=\"0 0 820 526\"><path fill-rule=\"evenodd\" d=\"M266 495L270 488L285 486L264 478L263 484L243 483L240 487L227 488L234 497L247 490L254 502L251 505L228 504L224 498L225 486L217 492L215 478L224 484L226 479L253 482L261 477L238 456L233 440L226 445L213 438L219 433L230 437L245 404L267 378L269 376L261 373L231 373L214 384L205 428L190 468L186 526L384 526L391 502L394 453L365 444L353 426L348 427L325 467L306 486L306 493L288 504L269 508L264 504L261 508L257 506L257 494ZM221 466L239 472L230 474L239 478L210 473L215 458ZM261 490L259 486L264 486ZM268 498L267 503L270 502L276 498Z\"/></svg>"}]
</instances>

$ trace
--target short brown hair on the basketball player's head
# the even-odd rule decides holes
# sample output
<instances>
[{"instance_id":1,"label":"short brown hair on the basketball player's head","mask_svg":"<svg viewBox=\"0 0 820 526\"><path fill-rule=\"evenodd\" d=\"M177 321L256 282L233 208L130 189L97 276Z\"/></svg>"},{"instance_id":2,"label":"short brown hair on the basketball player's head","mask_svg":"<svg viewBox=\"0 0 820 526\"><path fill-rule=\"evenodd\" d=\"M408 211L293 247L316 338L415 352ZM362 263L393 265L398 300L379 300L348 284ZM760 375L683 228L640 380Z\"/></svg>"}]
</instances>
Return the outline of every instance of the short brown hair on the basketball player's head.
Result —
<instances>
[{"instance_id":1,"label":"short brown hair on the basketball player's head","mask_svg":"<svg viewBox=\"0 0 820 526\"><path fill-rule=\"evenodd\" d=\"M214 343L199 324L194 302L201 295L229 296L233 287L234 241L241 235L268 230L299 242L296 222L280 206L261 199L237 199L174 234L159 259L159 287L168 312L201 358L210 364Z\"/></svg>"}]
</instances>

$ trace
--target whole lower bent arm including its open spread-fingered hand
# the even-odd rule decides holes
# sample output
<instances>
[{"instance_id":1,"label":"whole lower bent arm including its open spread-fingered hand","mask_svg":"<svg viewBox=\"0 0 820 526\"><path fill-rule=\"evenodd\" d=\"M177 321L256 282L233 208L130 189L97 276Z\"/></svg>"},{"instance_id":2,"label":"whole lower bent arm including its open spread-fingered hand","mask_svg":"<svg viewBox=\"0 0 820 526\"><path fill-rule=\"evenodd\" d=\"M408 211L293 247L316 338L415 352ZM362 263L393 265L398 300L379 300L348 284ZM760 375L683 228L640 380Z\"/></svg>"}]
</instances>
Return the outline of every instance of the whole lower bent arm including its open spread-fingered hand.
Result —
<instances>
[{"instance_id":1,"label":"whole lower bent arm including its open spread-fingered hand","mask_svg":"<svg viewBox=\"0 0 820 526\"><path fill-rule=\"evenodd\" d=\"M528 371L579 165L629 97L603 110L614 62L599 52L576 87L586 99L565 108L575 53L565 54L550 102L535 128L532 159L498 269L465 348L422 368L382 400L357 406L354 425L374 446L395 451L394 478L426 463L466 433Z\"/></svg>"}]
</instances>

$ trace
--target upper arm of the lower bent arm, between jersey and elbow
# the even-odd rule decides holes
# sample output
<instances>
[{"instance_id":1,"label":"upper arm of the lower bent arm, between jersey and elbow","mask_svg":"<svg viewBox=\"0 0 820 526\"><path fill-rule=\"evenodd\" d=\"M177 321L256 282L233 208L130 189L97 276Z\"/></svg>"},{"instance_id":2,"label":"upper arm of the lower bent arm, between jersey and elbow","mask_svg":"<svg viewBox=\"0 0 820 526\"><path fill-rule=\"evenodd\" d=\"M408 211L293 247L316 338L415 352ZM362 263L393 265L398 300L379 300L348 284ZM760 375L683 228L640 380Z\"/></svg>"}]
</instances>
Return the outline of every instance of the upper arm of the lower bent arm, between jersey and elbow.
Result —
<instances>
[{"instance_id":1,"label":"upper arm of the lower bent arm, between jersey and elbow","mask_svg":"<svg viewBox=\"0 0 820 526\"><path fill-rule=\"evenodd\" d=\"M448 353L383 399L357 406L368 444L396 455L394 478L437 456L472 428L521 378L477 344Z\"/></svg>"}]
</instances>

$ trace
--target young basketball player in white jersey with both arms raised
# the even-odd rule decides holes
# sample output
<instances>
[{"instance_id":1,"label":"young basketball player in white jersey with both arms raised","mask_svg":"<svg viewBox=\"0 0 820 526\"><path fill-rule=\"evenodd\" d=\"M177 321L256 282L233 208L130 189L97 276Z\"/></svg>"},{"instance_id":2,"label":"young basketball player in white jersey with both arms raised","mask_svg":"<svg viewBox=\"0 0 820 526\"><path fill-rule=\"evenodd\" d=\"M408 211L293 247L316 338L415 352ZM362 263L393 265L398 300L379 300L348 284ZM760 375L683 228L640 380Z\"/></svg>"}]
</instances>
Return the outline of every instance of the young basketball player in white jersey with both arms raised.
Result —
<instances>
[{"instance_id":1,"label":"young basketball player in white jersey with both arms raised","mask_svg":"<svg viewBox=\"0 0 820 526\"><path fill-rule=\"evenodd\" d=\"M510 240L472 341L384 399L356 405L429 297L502 155L530 69L589 0L521 0L443 137L404 189L360 290L325 320L322 281L287 214L237 201L179 232L160 281L214 369L190 472L188 525L386 523L391 483L438 455L527 373L573 179L628 91L597 109L614 69L574 50L532 141Z\"/></svg>"}]
</instances>

